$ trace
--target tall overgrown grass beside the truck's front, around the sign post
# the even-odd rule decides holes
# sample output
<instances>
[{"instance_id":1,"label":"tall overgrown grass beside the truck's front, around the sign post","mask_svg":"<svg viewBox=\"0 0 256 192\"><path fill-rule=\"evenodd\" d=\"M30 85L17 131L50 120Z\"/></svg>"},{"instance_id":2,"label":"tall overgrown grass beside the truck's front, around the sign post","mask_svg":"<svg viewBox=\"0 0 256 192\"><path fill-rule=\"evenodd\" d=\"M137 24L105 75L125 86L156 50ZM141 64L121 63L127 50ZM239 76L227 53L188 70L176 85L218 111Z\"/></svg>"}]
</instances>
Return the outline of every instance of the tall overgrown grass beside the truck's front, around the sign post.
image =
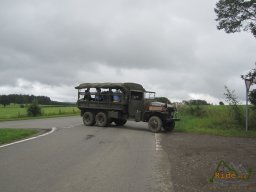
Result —
<instances>
[{"instance_id":1,"label":"tall overgrown grass beside the truck's front, around the sign post","mask_svg":"<svg viewBox=\"0 0 256 192\"><path fill-rule=\"evenodd\" d=\"M243 115L243 107L241 114ZM256 112L250 111L249 131L245 121L238 122L231 106L180 106L181 121L175 130L220 136L256 137ZM244 117L242 117L244 119Z\"/></svg>"}]
</instances>

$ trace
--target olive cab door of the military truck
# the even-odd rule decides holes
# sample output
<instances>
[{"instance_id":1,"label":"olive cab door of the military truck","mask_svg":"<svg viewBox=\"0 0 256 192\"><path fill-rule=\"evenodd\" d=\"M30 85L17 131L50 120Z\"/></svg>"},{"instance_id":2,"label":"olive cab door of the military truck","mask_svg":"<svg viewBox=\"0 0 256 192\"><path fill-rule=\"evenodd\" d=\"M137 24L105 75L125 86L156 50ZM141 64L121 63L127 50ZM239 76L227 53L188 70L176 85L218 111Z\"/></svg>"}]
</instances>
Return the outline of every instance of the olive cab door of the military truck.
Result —
<instances>
[{"instance_id":1,"label":"olive cab door of the military truck","mask_svg":"<svg viewBox=\"0 0 256 192\"><path fill-rule=\"evenodd\" d=\"M141 91L131 91L129 98L129 117L140 121L143 110L144 93Z\"/></svg>"}]
</instances>

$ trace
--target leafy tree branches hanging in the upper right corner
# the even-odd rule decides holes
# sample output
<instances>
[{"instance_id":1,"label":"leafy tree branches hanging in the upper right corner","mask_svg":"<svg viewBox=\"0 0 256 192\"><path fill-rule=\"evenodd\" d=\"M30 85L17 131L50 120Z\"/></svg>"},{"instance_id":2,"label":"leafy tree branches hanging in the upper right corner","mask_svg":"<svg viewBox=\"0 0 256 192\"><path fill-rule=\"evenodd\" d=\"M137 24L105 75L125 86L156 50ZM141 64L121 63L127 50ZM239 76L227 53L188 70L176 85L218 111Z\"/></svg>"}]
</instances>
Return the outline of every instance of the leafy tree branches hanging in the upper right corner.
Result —
<instances>
[{"instance_id":1,"label":"leafy tree branches hanging in the upper right corner","mask_svg":"<svg viewBox=\"0 0 256 192\"><path fill-rule=\"evenodd\" d=\"M255 0L219 0L214 9L217 14L217 28L226 33L250 31L256 38Z\"/></svg>"}]
</instances>

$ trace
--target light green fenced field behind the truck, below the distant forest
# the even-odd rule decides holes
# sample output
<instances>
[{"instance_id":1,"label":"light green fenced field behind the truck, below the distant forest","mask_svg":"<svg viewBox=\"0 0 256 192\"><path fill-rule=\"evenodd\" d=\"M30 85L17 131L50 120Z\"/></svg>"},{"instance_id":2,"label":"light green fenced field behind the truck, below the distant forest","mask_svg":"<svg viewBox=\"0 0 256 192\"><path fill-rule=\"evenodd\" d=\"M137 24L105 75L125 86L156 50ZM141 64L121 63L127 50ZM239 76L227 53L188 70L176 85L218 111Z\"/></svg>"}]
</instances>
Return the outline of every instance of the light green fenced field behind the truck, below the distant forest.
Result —
<instances>
[{"instance_id":1,"label":"light green fenced field behind the truck, below the distant forest","mask_svg":"<svg viewBox=\"0 0 256 192\"><path fill-rule=\"evenodd\" d=\"M45 118L51 116L66 116L77 115L79 109L75 106L41 106L42 115L36 118ZM21 108L20 105L8 105L6 107L0 106L0 121L12 119L27 119L33 118L27 116L27 108Z\"/></svg>"}]
</instances>

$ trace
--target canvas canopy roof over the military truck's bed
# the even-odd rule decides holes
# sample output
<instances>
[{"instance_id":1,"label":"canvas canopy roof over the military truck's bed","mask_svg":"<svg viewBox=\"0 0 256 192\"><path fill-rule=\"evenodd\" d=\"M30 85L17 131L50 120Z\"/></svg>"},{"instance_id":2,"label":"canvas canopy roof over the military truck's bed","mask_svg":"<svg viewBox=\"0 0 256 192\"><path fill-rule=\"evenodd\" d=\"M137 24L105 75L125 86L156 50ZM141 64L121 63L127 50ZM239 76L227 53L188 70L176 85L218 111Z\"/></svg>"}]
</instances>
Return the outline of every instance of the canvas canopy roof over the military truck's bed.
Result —
<instances>
[{"instance_id":1,"label":"canvas canopy roof over the military truck's bed","mask_svg":"<svg viewBox=\"0 0 256 192\"><path fill-rule=\"evenodd\" d=\"M112 89L125 89L125 90L137 90L145 91L142 85L137 83L82 83L79 86L75 87L76 89L84 88L112 88Z\"/></svg>"}]
</instances>

